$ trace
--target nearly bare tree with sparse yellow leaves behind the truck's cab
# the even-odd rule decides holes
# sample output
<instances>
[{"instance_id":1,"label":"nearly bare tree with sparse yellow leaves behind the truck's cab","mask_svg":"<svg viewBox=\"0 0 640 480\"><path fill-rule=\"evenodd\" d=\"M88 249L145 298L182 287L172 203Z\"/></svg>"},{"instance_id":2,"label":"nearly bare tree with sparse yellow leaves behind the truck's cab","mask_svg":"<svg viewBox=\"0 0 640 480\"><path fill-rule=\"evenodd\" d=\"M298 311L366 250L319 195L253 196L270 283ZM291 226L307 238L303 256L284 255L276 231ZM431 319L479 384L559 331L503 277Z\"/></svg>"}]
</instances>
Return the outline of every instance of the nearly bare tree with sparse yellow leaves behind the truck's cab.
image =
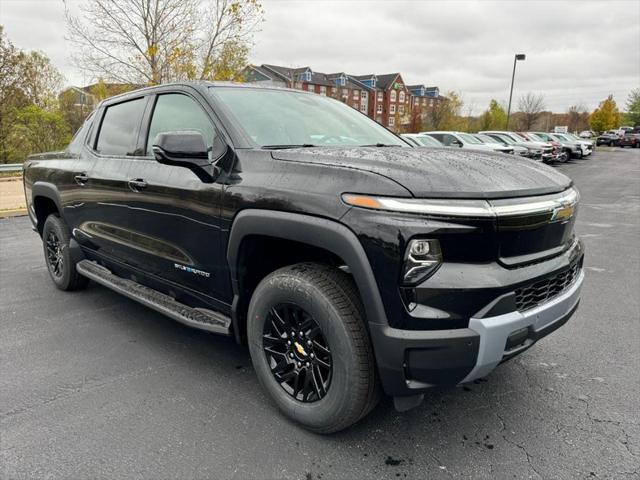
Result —
<instances>
[{"instance_id":1,"label":"nearly bare tree with sparse yellow leaves behind the truck's cab","mask_svg":"<svg viewBox=\"0 0 640 480\"><path fill-rule=\"evenodd\" d=\"M263 18L257 0L88 0L66 11L76 65L93 78L158 84L219 77L246 58Z\"/></svg>"}]
</instances>

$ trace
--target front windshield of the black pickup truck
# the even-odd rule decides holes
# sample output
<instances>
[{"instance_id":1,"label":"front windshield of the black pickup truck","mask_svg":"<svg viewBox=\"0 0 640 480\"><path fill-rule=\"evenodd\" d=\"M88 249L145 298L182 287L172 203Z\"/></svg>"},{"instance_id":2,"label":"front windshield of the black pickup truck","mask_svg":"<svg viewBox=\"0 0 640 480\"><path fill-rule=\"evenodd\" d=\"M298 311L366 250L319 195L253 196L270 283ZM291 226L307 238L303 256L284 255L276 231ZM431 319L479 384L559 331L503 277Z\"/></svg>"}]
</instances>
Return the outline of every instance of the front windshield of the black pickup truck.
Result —
<instances>
[{"instance_id":1,"label":"front windshield of the black pickup truck","mask_svg":"<svg viewBox=\"0 0 640 480\"><path fill-rule=\"evenodd\" d=\"M212 87L256 146L409 145L342 102L304 92L246 87Z\"/></svg>"}]
</instances>

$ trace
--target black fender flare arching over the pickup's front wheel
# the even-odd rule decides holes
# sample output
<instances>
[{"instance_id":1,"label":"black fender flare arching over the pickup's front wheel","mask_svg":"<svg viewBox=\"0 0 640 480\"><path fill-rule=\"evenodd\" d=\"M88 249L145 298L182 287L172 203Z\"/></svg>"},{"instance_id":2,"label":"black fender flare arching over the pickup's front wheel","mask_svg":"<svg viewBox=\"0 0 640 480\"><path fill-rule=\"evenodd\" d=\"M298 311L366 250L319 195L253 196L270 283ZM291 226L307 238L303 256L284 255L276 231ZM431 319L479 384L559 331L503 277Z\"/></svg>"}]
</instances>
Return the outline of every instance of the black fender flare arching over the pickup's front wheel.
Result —
<instances>
[{"instance_id":1,"label":"black fender flare arching over the pickup's front wheel","mask_svg":"<svg viewBox=\"0 0 640 480\"><path fill-rule=\"evenodd\" d=\"M349 267L360 292L369 323L388 325L369 259L355 233L333 220L300 213L247 209L238 213L231 226L227 262L233 287L232 316L237 338L236 307L239 300L238 255L248 235L265 235L323 248L340 257Z\"/></svg>"}]
</instances>

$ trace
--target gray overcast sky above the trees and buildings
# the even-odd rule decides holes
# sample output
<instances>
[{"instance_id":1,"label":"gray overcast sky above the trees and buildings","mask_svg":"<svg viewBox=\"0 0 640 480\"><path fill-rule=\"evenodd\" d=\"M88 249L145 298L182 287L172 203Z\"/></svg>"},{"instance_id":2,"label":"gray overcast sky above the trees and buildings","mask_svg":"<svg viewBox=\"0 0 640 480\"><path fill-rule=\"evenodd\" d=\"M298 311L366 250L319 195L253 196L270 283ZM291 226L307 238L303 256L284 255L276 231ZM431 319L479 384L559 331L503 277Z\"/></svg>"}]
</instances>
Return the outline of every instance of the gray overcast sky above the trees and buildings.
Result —
<instances>
[{"instance_id":1,"label":"gray overcast sky above the trees and buildings","mask_svg":"<svg viewBox=\"0 0 640 480\"><path fill-rule=\"evenodd\" d=\"M400 72L408 84L461 92L465 112L479 113L491 98L506 104L514 53L527 55L518 62L514 105L531 91L556 112L591 110L609 94L623 106L640 87L640 0L262 3L252 63ZM0 23L17 46L44 51L67 83L91 80L69 61L62 0L0 0Z\"/></svg>"}]
</instances>

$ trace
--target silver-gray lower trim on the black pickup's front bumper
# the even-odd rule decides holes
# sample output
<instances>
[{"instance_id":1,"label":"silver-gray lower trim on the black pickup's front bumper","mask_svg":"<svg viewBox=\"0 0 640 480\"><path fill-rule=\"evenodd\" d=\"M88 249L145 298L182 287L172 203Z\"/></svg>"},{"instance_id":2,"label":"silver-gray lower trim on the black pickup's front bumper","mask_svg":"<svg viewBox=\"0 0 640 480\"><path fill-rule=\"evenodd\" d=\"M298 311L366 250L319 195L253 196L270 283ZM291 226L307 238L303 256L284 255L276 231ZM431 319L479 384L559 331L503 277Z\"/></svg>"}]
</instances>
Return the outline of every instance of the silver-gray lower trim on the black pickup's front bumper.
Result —
<instances>
[{"instance_id":1,"label":"silver-gray lower trim on the black pickup's front bumper","mask_svg":"<svg viewBox=\"0 0 640 480\"><path fill-rule=\"evenodd\" d=\"M580 290L584 281L584 271L571 287L539 307L526 312L510 312L488 318L471 318L469 328L480 335L480 349L476 366L460 383L470 382L486 376L503 359L509 335L522 328L531 328L534 332L545 329L565 317L580 301Z\"/></svg>"}]
</instances>

